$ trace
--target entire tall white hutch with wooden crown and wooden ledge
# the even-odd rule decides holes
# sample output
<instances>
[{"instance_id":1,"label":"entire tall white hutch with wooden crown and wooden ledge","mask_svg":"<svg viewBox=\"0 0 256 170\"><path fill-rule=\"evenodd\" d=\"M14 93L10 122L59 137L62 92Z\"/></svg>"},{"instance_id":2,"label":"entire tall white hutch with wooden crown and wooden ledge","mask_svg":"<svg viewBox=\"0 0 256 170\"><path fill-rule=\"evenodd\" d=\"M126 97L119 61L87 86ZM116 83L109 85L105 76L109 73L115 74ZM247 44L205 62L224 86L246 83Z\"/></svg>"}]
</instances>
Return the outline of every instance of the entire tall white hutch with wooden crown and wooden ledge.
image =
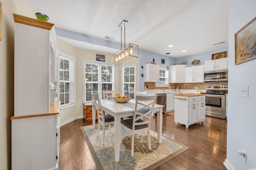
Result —
<instances>
[{"instance_id":1,"label":"entire tall white hutch with wooden crown and wooden ledge","mask_svg":"<svg viewBox=\"0 0 256 170\"><path fill-rule=\"evenodd\" d=\"M58 169L60 102L54 24L13 16L12 170Z\"/></svg>"}]
</instances>

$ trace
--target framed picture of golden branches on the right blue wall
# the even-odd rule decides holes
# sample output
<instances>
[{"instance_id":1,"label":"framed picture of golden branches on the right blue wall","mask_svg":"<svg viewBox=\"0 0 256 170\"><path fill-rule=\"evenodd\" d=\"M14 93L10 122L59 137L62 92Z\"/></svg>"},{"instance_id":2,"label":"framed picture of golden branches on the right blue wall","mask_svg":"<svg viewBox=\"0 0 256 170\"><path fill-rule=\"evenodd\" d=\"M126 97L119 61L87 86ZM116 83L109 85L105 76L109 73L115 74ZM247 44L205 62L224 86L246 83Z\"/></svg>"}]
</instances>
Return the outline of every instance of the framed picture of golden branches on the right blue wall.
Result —
<instances>
[{"instance_id":1,"label":"framed picture of golden branches on the right blue wall","mask_svg":"<svg viewBox=\"0 0 256 170\"><path fill-rule=\"evenodd\" d=\"M256 17L235 33L235 64L256 59Z\"/></svg>"}]
</instances>

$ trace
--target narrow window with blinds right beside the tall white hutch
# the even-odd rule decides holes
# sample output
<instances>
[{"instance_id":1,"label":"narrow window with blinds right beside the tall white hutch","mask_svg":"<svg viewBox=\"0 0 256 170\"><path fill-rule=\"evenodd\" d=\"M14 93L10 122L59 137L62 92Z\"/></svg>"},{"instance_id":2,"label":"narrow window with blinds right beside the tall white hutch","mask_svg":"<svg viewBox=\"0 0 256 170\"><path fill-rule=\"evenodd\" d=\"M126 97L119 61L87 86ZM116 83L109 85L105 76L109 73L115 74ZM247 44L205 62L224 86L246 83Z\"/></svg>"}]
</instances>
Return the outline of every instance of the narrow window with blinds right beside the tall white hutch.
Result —
<instances>
[{"instance_id":1,"label":"narrow window with blinds right beside the tall white hutch","mask_svg":"<svg viewBox=\"0 0 256 170\"><path fill-rule=\"evenodd\" d=\"M74 67L75 58L64 54L60 55L59 77L60 77L60 103L63 106L74 105Z\"/></svg>"}]
</instances>

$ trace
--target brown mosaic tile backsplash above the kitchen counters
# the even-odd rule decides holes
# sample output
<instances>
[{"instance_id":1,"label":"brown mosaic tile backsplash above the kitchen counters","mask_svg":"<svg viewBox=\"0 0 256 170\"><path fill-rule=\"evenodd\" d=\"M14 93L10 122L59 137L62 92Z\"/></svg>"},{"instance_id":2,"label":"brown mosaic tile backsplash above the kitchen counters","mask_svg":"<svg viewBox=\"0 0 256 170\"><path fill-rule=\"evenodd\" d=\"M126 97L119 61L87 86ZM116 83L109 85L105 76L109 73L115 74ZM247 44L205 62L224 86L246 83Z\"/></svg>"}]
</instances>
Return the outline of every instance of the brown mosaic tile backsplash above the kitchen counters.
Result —
<instances>
[{"instance_id":1,"label":"brown mosaic tile backsplash above the kitchen counters","mask_svg":"<svg viewBox=\"0 0 256 170\"><path fill-rule=\"evenodd\" d=\"M169 83L171 89L179 86L180 89L184 90L206 90L206 86L228 86L228 82L202 82L202 83ZM144 89L163 89L163 87L156 87L155 82L144 82Z\"/></svg>"}]
</instances>

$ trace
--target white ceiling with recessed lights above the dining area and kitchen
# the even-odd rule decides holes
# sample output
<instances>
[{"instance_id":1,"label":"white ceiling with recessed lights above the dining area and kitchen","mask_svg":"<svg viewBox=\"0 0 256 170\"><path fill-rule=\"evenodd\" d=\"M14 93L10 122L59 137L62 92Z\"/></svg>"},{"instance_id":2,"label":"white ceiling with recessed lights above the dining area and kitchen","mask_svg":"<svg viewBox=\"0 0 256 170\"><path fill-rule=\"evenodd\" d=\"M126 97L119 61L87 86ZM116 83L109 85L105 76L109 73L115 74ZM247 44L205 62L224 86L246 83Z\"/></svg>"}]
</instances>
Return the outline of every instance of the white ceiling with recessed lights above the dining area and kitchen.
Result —
<instances>
[{"instance_id":1,"label":"white ceiling with recessed lights above the dining area and kitchen","mask_svg":"<svg viewBox=\"0 0 256 170\"><path fill-rule=\"evenodd\" d=\"M126 44L136 44L140 49L161 55L169 52L166 56L173 58L228 46L228 0L31 0L31 3L34 12L49 16L48 22L55 27L118 44L121 43L118 25L127 20ZM78 48L117 51L59 38Z\"/></svg>"}]
</instances>

